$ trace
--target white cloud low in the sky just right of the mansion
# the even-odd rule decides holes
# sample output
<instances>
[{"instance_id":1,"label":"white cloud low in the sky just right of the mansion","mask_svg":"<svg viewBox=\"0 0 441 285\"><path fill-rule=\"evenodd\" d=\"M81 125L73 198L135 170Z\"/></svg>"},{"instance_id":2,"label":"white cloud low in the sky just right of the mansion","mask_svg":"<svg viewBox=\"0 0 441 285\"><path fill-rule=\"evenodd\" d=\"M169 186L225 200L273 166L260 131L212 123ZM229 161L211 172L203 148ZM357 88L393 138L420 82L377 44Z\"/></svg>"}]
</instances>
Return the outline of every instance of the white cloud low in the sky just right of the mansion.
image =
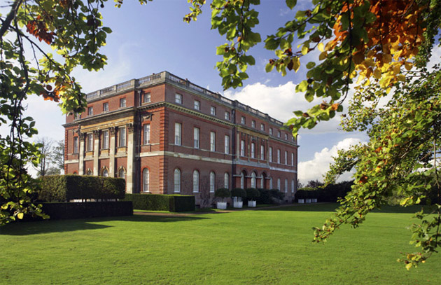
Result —
<instances>
[{"instance_id":1,"label":"white cloud low in the sky just right of the mansion","mask_svg":"<svg viewBox=\"0 0 441 285\"><path fill-rule=\"evenodd\" d=\"M334 160L332 156L337 155L337 150L347 149L350 146L359 144L361 141L357 138L346 138L339 141L338 144L332 146L332 148L323 148L320 152L314 153L312 160L299 162L298 164L298 178L302 183L307 183L309 180L323 181L323 174L328 172L329 165ZM353 173L345 173L339 177L339 181L351 180Z\"/></svg>"}]
</instances>

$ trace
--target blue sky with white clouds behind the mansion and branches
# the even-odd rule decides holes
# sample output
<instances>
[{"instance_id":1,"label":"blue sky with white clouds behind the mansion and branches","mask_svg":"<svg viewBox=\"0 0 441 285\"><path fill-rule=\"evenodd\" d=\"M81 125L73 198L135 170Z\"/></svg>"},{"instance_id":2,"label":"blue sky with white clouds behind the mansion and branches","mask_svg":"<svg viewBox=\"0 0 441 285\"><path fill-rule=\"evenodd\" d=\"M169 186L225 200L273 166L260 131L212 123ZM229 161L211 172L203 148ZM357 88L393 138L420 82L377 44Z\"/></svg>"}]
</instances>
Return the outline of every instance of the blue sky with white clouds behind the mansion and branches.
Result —
<instances>
[{"instance_id":1,"label":"blue sky with white clouds behind the mansion and branches","mask_svg":"<svg viewBox=\"0 0 441 285\"><path fill-rule=\"evenodd\" d=\"M256 31L265 39L267 35L274 34L277 27L292 19L295 10L290 11L283 0L261 2L256 7L260 12ZM295 9L305 8L310 3L298 2ZM225 43L225 40L216 30L210 29L209 4L197 22L183 22L183 16L189 11L188 5L186 0L155 0L140 6L137 1L126 0L121 8L115 8L109 1L102 11L104 26L113 30L102 49L109 58L108 64L99 72L76 69L74 76L84 91L92 92L167 70L204 88L238 99L278 120L286 121L292 111L305 110L310 106L302 94L295 93L295 84L305 78L304 67L297 74L291 72L285 77L275 71L267 74L265 64L274 57L274 52L263 49L263 43L251 50L256 64L248 68L250 78L244 82L244 87L224 92L214 66L221 60L216 55L216 46ZM305 64L307 60L302 62ZM64 116L54 102L31 96L27 103L27 114L36 119L38 137L64 138ZM338 125L339 120L332 120L313 130L300 131L298 171L303 182L321 180L337 146L346 148L366 140L364 134L339 131Z\"/></svg>"}]
</instances>

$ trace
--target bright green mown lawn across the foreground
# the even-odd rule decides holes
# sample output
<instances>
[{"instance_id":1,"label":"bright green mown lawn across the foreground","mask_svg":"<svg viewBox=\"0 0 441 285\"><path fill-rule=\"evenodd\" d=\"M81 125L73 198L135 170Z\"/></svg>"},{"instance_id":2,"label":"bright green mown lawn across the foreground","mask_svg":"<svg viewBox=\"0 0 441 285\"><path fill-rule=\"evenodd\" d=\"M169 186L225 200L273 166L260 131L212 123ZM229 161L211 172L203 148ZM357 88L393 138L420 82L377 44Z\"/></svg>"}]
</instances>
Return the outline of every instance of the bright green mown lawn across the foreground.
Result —
<instances>
[{"instance_id":1,"label":"bright green mown lawn across the foreground","mask_svg":"<svg viewBox=\"0 0 441 285\"><path fill-rule=\"evenodd\" d=\"M334 208L14 223L0 228L0 284L439 284L440 254L396 262L414 248L412 215L394 207L312 244Z\"/></svg>"}]
</instances>

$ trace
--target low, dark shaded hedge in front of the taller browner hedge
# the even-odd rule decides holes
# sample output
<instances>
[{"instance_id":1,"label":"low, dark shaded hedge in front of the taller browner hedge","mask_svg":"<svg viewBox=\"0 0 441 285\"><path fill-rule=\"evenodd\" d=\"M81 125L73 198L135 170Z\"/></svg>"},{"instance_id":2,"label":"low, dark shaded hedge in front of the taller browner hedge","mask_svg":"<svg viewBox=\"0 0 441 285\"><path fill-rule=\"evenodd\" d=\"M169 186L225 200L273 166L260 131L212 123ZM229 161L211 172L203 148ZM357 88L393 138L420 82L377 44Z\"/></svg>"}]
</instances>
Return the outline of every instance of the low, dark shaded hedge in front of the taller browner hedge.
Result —
<instances>
[{"instance_id":1,"label":"low, dark shaded hedge in front of the taller browner hedge","mask_svg":"<svg viewBox=\"0 0 441 285\"><path fill-rule=\"evenodd\" d=\"M132 202L53 202L40 203L51 220L71 218L98 218L106 216L132 216ZM43 218L25 216L24 221L41 221Z\"/></svg>"}]
</instances>

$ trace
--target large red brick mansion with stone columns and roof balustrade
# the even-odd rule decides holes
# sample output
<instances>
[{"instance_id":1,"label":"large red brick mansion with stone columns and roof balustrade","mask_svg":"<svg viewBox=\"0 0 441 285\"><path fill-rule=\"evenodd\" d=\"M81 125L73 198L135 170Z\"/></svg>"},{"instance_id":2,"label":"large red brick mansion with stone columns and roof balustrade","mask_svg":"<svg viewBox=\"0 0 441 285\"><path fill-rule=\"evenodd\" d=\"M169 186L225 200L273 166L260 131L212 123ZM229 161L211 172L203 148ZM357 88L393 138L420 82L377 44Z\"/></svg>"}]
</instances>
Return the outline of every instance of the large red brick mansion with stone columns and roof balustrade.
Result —
<instances>
[{"instance_id":1,"label":"large red brick mansion with stone columns and roof balustrade","mask_svg":"<svg viewBox=\"0 0 441 285\"><path fill-rule=\"evenodd\" d=\"M66 116L66 174L123 177L127 193L278 188L293 200L297 141L279 120L167 71L92 92Z\"/></svg>"}]
</instances>

